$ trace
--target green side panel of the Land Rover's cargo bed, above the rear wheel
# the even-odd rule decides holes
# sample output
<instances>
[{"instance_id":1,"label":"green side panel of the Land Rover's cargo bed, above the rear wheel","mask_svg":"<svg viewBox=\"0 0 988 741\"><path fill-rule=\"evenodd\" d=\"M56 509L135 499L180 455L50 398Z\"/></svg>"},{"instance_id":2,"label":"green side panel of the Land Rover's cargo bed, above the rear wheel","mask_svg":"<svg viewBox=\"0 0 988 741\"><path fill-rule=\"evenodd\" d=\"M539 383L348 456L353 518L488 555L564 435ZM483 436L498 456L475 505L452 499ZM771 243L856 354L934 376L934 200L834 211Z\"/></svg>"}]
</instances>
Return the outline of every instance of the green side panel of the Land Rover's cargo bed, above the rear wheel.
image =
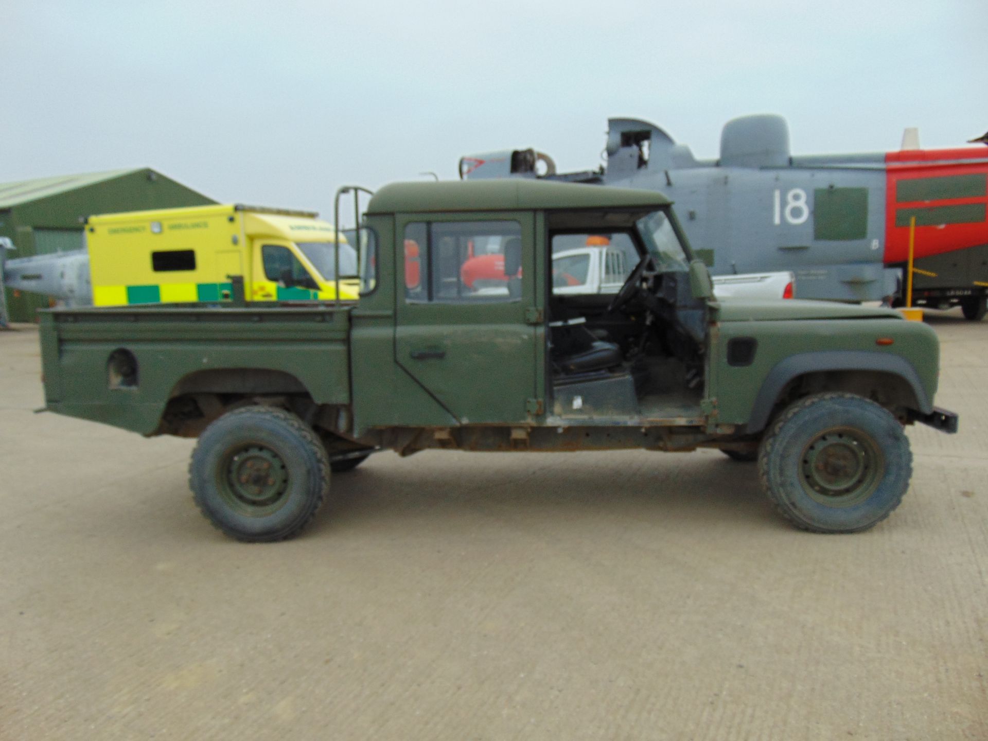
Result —
<instances>
[{"instance_id":1,"label":"green side panel of the Land Rover's cargo bed, above the rear wheel","mask_svg":"<svg viewBox=\"0 0 988 741\"><path fill-rule=\"evenodd\" d=\"M282 371L322 404L349 404L349 309L81 309L42 314L48 409L150 435L176 385L197 371ZM114 387L124 350L136 382Z\"/></svg>"}]
</instances>

